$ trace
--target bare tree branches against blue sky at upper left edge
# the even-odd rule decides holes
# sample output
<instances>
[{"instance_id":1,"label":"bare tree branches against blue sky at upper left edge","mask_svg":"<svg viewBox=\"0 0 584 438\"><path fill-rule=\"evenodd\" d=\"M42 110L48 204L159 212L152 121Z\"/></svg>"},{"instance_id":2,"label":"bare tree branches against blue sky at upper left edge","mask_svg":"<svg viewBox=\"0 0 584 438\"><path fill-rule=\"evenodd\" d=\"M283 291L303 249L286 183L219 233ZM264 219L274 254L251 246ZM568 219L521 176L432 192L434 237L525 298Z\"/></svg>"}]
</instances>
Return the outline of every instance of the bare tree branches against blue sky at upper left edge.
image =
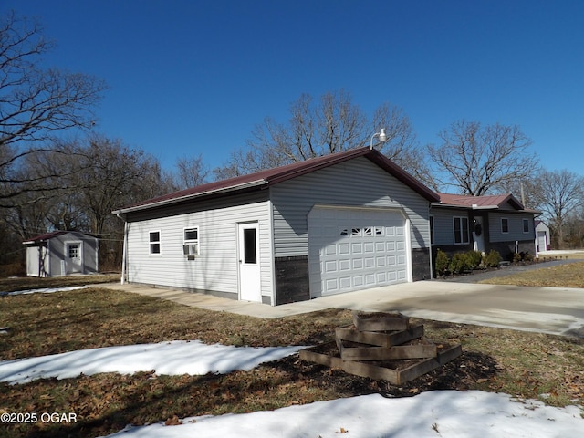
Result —
<instances>
[{"instance_id":1,"label":"bare tree branches against blue sky at upper left edge","mask_svg":"<svg viewBox=\"0 0 584 438\"><path fill-rule=\"evenodd\" d=\"M11 206L16 195L55 176L26 175L19 169L22 160L54 151L50 140L57 132L91 128L91 108L105 84L85 74L42 68L53 44L38 23L14 13L0 20L0 206Z\"/></svg>"}]
</instances>

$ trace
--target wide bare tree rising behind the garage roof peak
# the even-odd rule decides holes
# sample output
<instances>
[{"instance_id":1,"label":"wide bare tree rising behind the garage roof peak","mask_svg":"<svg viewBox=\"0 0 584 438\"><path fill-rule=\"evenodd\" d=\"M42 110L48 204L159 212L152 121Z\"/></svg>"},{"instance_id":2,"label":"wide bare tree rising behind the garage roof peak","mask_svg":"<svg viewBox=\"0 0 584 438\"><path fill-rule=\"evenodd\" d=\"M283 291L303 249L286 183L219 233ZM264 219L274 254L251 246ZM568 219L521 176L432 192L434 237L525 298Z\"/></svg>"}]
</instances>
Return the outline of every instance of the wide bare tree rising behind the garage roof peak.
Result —
<instances>
[{"instance_id":1,"label":"wide bare tree rising behind the garage roof peak","mask_svg":"<svg viewBox=\"0 0 584 438\"><path fill-rule=\"evenodd\" d=\"M371 135L385 128L388 141L380 151L411 171L422 162L412 124L403 111L390 104L378 108L368 120L345 90L328 92L319 100L303 94L290 106L290 119L279 123L272 118L255 127L245 149L232 152L215 177L231 177L263 169L301 162L370 144Z\"/></svg>"}]
</instances>

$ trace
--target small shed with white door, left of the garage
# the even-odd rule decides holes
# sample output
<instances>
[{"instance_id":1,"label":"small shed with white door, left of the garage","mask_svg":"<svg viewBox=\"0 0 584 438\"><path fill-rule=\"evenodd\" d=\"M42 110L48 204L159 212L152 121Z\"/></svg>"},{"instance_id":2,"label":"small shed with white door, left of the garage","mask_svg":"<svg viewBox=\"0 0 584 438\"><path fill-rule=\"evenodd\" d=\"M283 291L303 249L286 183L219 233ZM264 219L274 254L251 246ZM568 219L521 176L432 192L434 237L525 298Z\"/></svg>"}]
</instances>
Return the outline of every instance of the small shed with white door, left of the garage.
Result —
<instances>
[{"instance_id":1,"label":"small shed with white door, left of the garage","mask_svg":"<svg viewBox=\"0 0 584 438\"><path fill-rule=\"evenodd\" d=\"M98 238L78 231L54 231L26 242L27 276L98 272Z\"/></svg>"}]
</instances>

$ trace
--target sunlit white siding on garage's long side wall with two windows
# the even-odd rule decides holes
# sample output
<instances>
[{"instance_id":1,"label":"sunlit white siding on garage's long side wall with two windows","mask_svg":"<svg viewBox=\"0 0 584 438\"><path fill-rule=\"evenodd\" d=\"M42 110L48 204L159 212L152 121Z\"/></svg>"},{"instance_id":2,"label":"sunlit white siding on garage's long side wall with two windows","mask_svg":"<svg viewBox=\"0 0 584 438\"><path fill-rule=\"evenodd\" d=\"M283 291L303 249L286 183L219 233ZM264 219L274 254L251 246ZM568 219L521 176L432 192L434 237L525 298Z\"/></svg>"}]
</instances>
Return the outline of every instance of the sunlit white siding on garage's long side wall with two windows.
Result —
<instances>
[{"instance_id":1,"label":"sunlit white siding on garage's long side wall with two windows","mask_svg":"<svg viewBox=\"0 0 584 438\"><path fill-rule=\"evenodd\" d=\"M263 201L258 201L262 198ZM128 280L164 287L237 294L237 224L257 221L262 295L272 297L270 203L266 201L265 193L232 197L230 201L230 206L221 206L217 201L201 203L193 212L182 212L187 207L177 206L171 209L175 214L165 217L140 218L136 214L134 221L130 217ZM198 228L200 255L188 257L184 255L183 249L185 230L194 228ZM149 233L153 230L161 230L162 255L159 257L149 256Z\"/></svg>"}]
</instances>

